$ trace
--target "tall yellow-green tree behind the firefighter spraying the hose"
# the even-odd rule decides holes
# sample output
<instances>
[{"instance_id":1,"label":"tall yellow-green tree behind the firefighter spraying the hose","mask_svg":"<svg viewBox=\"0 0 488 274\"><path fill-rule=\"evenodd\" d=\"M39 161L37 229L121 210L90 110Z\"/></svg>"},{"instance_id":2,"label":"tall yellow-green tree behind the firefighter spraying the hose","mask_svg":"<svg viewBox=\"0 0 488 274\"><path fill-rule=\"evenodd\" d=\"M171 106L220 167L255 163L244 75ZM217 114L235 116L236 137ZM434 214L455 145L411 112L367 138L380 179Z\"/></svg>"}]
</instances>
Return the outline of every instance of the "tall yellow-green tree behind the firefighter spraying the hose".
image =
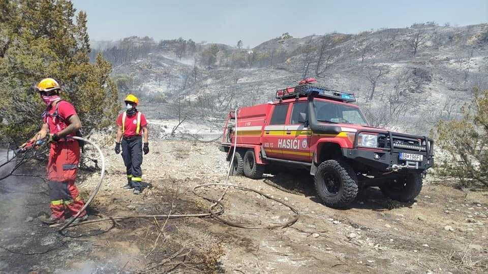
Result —
<instances>
[{"instance_id":1,"label":"tall yellow-green tree behind the firefighter spraying the hose","mask_svg":"<svg viewBox=\"0 0 488 274\"><path fill-rule=\"evenodd\" d=\"M45 105L31 88L46 77L63 86L88 132L113 123L119 110L111 65L89 63L86 14L66 0L0 2L0 138L20 141L39 128Z\"/></svg>"}]
</instances>

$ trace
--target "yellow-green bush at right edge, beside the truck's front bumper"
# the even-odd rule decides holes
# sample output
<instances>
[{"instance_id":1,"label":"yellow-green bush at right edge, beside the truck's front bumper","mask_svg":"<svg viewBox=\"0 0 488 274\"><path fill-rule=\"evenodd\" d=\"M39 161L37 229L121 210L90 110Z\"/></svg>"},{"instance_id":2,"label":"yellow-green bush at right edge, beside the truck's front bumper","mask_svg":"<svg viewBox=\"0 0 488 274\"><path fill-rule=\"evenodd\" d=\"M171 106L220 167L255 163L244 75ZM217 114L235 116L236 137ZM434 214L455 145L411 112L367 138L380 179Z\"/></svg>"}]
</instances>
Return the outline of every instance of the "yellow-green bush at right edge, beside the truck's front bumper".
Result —
<instances>
[{"instance_id":1,"label":"yellow-green bush at right edge, beside the truck's front bumper","mask_svg":"<svg viewBox=\"0 0 488 274\"><path fill-rule=\"evenodd\" d=\"M488 90L475 90L462 119L441 121L437 146L445 155L438 163L440 176L456 178L464 187L488 187Z\"/></svg>"}]
</instances>

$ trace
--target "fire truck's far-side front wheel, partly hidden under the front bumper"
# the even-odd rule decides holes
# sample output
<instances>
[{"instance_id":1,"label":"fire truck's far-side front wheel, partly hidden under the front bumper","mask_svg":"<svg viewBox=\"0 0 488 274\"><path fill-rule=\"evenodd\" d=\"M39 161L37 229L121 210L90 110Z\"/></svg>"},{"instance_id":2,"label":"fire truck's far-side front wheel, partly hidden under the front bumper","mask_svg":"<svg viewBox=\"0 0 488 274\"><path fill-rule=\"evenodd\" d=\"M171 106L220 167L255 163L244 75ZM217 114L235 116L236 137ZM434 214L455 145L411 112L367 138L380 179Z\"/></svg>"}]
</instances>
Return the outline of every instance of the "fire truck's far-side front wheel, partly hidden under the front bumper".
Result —
<instances>
[{"instance_id":1,"label":"fire truck's far-side front wheel, partly hidden under the front bumper","mask_svg":"<svg viewBox=\"0 0 488 274\"><path fill-rule=\"evenodd\" d=\"M387 181L380 186L381 192L386 197L397 201L411 201L422 190L422 174L411 173L398 179Z\"/></svg>"}]
</instances>

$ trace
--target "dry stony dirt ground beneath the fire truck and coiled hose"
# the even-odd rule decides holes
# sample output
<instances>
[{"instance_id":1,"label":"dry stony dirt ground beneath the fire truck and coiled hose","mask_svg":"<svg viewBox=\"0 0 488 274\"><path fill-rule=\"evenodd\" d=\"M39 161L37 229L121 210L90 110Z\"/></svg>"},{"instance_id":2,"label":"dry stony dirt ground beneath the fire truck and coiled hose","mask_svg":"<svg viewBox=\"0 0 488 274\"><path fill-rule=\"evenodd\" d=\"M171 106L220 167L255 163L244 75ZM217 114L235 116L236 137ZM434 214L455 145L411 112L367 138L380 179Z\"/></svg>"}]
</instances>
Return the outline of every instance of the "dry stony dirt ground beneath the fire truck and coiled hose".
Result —
<instances>
[{"instance_id":1,"label":"dry stony dirt ground beneath the fire truck and coiled hose","mask_svg":"<svg viewBox=\"0 0 488 274\"><path fill-rule=\"evenodd\" d=\"M107 180L91 214L99 216L206 213L210 203L191 189L223 182L224 154L216 145L181 141L151 142L143 179L149 188L136 196L120 187L125 175L119 155L106 151ZM97 175L80 180L89 192ZM426 183L417 201L398 203L368 189L348 210L334 210L314 196L307 173L280 173L264 180L232 177L230 183L282 199L300 212L291 227L273 230L234 228L211 218L131 219L97 223L70 231L67 243L45 255L0 250L0 271L28 272L438 272L488 270L488 193L463 192ZM219 197L223 188L207 188ZM46 198L43 198L46 199ZM229 189L223 218L250 225L282 223L292 216L283 205L257 194ZM45 201L47 211L47 199ZM39 206L31 209L31 215ZM0 213L5 213L0 210ZM0 216L3 219L3 216ZM45 227L21 222L38 231ZM23 228L25 229L25 228ZM450 231L452 230L452 231ZM3 228L5 231L12 231ZM22 230L20 230L22 231ZM29 230L30 231L30 230ZM39 232L38 232L39 233ZM44 234L41 234L44 235ZM79 236L81 235L81 236ZM47 236L46 236L47 237ZM43 238L40 238L43 240ZM34 240L2 245L15 248ZM8 242L7 244L5 242ZM63 253L55 260L56 253ZM81 260L79 260L81 259ZM18 260L23 260L18 263ZM39 261L42 261L40 263ZM17 262L17 263L16 263ZM24 267L21 267L24 266Z\"/></svg>"}]
</instances>

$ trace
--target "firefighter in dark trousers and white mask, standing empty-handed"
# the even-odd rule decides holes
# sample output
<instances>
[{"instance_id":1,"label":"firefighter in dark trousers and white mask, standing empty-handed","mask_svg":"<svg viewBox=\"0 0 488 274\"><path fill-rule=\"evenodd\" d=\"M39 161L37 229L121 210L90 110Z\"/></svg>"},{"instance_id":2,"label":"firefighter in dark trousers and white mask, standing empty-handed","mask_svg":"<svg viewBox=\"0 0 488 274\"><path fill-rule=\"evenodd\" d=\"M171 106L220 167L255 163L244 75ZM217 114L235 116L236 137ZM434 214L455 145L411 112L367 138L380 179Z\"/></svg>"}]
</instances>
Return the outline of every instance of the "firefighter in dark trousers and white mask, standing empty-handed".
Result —
<instances>
[{"instance_id":1,"label":"firefighter in dark trousers and white mask, standing empty-handed","mask_svg":"<svg viewBox=\"0 0 488 274\"><path fill-rule=\"evenodd\" d=\"M125 189L133 189L134 194L142 191L142 152L149 153L147 121L144 114L140 113L136 106L139 99L129 94L124 100L127 111L117 118L117 137L115 140L115 153L120 153L122 146L122 158L127 169L127 185ZM142 146L144 138L144 146Z\"/></svg>"}]
</instances>

